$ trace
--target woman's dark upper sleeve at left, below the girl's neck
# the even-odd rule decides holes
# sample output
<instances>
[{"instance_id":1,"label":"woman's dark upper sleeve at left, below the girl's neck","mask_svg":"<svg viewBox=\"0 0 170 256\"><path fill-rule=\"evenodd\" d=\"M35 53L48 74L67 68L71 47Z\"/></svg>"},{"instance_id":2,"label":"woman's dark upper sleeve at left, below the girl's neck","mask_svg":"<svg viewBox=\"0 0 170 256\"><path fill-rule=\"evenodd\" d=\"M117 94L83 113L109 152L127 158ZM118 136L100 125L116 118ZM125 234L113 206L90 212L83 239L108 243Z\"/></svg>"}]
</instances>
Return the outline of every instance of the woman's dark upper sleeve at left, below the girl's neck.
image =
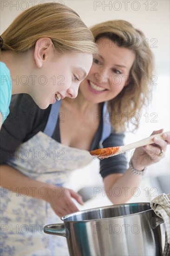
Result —
<instances>
[{"instance_id":1,"label":"woman's dark upper sleeve at left, below the girl's neck","mask_svg":"<svg viewBox=\"0 0 170 256\"><path fill-rule=\"evenodd\" d=\"M40 125L41 109L29 95L13 95L9 108L10 114L0 130L0 164L6 163L21 143L33 137Z\"/></svg>"}]
</instances>

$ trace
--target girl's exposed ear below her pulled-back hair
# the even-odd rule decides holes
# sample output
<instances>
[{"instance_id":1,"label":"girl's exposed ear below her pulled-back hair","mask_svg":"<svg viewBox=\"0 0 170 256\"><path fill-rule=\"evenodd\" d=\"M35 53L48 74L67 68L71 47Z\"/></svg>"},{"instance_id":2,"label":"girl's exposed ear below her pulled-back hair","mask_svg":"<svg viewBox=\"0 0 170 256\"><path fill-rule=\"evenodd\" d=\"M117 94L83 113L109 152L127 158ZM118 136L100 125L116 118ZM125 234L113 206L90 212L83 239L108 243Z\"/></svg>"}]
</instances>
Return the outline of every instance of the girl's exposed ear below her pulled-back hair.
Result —
<instances>
[{"instance_id":1,"label":"girl's exposed ear below her pulled-back hair","mask_svg":"<svg viewBox=\"0 0 170 256\"><path fill-rule=\"evenodd\" d=\"M49 37L39 38L34 49L34 60L37 67L42 67L53 49L52 40Z\"/></svg>"}]
</instances>

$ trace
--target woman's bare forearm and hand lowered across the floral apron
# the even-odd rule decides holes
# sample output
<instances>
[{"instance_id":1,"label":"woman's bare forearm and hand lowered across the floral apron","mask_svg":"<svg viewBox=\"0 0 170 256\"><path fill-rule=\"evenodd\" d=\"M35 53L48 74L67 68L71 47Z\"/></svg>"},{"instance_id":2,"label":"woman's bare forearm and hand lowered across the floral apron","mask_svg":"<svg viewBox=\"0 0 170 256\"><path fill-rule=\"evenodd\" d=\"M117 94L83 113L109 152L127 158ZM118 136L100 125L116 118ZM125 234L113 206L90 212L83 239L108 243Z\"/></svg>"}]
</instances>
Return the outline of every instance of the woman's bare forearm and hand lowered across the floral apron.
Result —
<instances>
[{"instance_id":1,"label":"woman's bare forearm and hand lowered across the floral apron","mask_svg":"<svg viewBox=\"0 0 170 256\"><path fill-rule=\"evenodd\" d=\"M2 186L1 196L10 190L22 196L44 200L51 204L52 209L59 217L78 211L72 198L83 204L82 197L72 189L30 179L8 165L0 165L0 186Z\"/></svg>"}]
</instances>

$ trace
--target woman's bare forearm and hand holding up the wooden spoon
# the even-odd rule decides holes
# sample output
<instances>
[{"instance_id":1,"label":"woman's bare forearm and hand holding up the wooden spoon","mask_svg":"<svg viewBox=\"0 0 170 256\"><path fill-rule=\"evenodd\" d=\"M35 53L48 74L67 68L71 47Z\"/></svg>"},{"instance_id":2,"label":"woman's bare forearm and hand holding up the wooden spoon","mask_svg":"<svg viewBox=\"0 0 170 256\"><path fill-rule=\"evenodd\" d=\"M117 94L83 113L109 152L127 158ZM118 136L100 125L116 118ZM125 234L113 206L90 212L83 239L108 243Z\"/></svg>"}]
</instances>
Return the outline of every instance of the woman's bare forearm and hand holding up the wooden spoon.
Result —
<instances>
[{"instance_id":1,"label":"woman's bare forearm and hand holding up the wooden spoon","mask_svg":"<svg viewBox=\"0 0 170 256\"><path fill-rule=\"evenodd\" d=\"M163 130L155 131L152 134L161 133ZM139 158L132 157L132 164L135 169L142 171L145 167L159 162L162 156L159 156L160 150L166 151L167 144L170 143L170 136L163 134L163 139L153 139L153 144L145 147L136 148L134 156L140 155ZM104 178L105 194L114 204L125 203L131 196L131 191L135 189L141 181L140 175L135 175L130 168L124 174L111 174ZM107 192L108 191L108 192Z\"/></svg>"}]
</instances>

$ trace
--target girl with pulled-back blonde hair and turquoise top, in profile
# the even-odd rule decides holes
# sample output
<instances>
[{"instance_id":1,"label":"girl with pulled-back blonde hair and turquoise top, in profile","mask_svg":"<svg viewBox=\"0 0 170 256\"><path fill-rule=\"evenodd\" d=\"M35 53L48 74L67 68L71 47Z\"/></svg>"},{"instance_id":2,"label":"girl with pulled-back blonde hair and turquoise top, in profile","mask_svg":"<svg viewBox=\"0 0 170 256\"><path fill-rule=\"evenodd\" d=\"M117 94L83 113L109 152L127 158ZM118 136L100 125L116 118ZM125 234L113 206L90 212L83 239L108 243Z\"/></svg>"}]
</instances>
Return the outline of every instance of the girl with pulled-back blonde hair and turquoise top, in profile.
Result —
<instances>
[{"instance_id":1,"label":"girl with pulled-back blonde hair and turquoise top, in profile","mask_svg":"<svg viewBox=\"0 0 170 256\"><path fill-rule=\"evenodd\" d=\"M46 3L21 13L0 36L0 125L11 94L30 94L42 109L75 98L95 51L92 33L65 5Z\"/></svg>"}]
</instances>

